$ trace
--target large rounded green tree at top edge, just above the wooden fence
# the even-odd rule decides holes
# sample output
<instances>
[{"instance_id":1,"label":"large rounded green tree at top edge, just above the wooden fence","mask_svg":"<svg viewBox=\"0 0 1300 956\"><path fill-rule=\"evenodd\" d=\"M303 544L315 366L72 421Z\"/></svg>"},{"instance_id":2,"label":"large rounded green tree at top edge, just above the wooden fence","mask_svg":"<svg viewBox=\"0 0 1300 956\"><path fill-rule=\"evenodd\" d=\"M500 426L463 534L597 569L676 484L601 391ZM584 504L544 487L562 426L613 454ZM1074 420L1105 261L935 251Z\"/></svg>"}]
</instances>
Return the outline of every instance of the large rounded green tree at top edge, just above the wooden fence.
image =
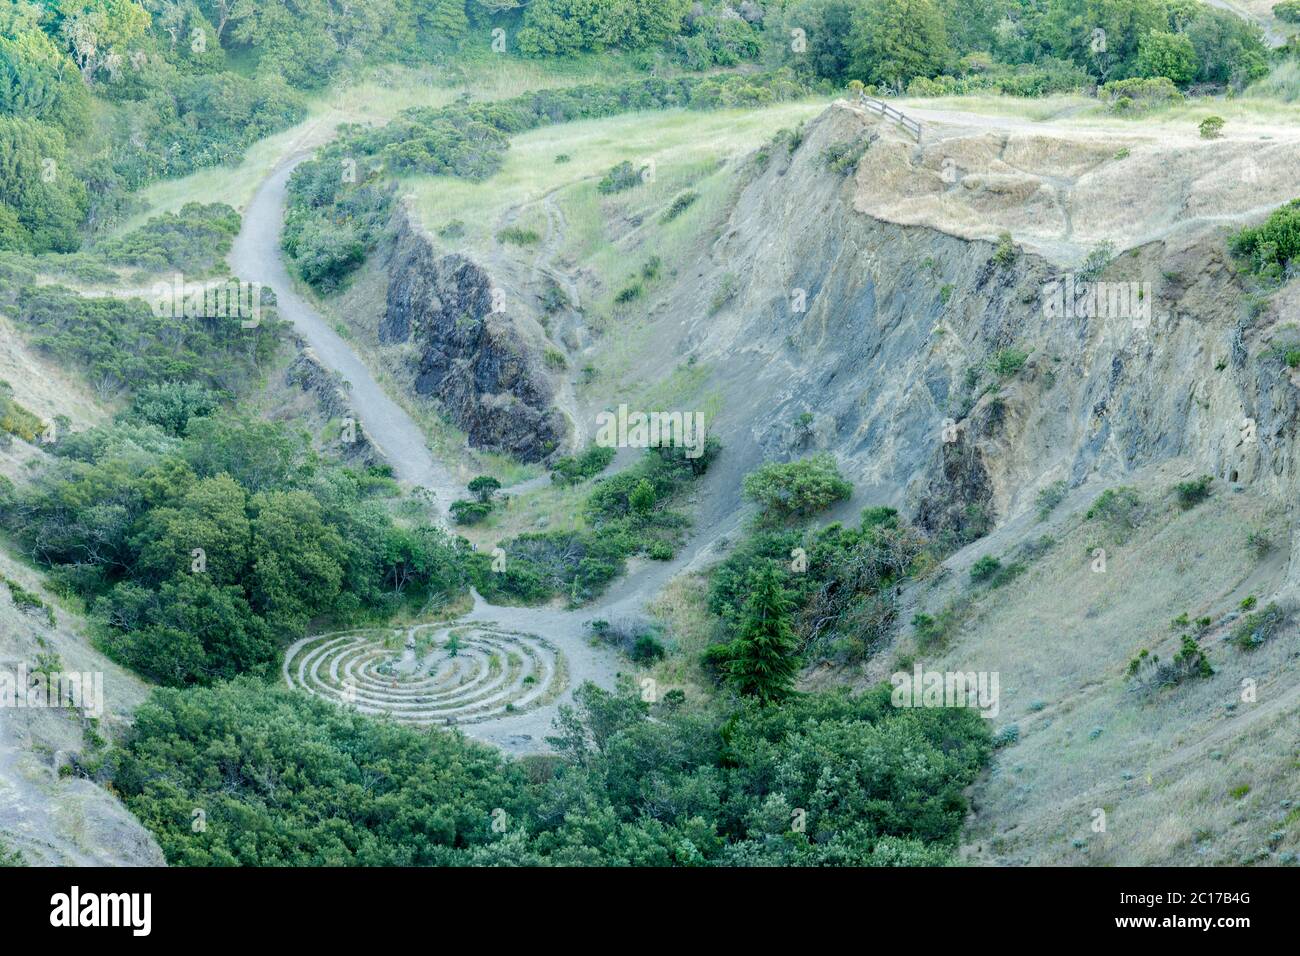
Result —
<instances>
[{"instance_id":1,"label":"large rounded green tree at top edge, just above the wooden fence","mask_svg":"<svg viewBox=\"0 0 1300 956\"><path fill-rule=\"evenodd\" d=\"M948 62L948 31L935 0L874 0L853 23L852 72L866 83L906 86Z\"/></svg>"}]
</instances>

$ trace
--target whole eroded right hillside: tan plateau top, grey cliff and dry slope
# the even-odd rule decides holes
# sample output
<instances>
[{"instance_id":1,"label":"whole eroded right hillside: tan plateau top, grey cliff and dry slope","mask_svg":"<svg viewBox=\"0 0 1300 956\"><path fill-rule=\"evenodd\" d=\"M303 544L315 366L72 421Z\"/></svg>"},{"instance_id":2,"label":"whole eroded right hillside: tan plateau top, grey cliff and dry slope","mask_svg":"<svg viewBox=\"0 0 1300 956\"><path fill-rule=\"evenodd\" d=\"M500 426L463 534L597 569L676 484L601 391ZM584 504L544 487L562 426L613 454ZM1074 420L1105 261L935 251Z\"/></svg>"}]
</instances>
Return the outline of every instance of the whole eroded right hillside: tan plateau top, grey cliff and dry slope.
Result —
<instances>
[{"instance_id":1,"label":"whole eroded right hillside: tan plateau top, grey cliff and dry slope","mask_svg":"<svg viewBox=\"0 0 1300 956\"><path fill-rule=\"evenodd\" d=\"M566 354L567 380L551 376L573 389L580 441L619 402L708 408L728 451L703 494L703 554L725 553L740 475L816 451L858 488L836 516L893 505L957 548L902 596L904 620L956 609L942 640L905 626L861 671L806 679L868 685L913 659L1002 675L1005 745L975 791L971 860L1294 853L1297 289L1261 295L1226 238L1300 193L1295 131L923 121L918 144L837 103L723 164L724 202L673 243L640 226L671 196L604 200L633 277L651 258L666 277L624 303L624 280L552 232L564 193L545 271L542 252L530 272L526 255L480 256L530 306L517 321L534 341L556 267L588 306L582 334L567 319L547 343ZM1213 494L1184 510L1173 489L1199 475ZM1093 514L1117 486L1141 502L1127 533ZM1040 520L1048 489L1065 503ZM985 555L1014 580L972 585ZM1287 624L1243 649L1242 622L1268 605ZM1205 622L1214 676L1135 691L1130 661L1173 658L1184 614Z\"/></svg>"}]
</instances>

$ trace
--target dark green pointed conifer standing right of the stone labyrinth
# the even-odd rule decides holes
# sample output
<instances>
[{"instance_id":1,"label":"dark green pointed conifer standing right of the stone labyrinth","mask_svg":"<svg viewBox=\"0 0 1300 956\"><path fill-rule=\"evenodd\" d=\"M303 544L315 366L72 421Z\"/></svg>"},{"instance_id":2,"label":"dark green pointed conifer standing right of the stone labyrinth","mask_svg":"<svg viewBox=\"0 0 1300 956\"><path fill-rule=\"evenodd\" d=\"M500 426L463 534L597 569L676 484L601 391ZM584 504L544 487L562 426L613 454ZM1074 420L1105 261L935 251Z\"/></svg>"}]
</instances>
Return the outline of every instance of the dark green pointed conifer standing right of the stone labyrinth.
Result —
<instances>
[{"instance_id":1,"label":"dark green pointed conifer standing right of the stone labyrinth","mask_svg":"<svg viewBox=\"0 0 1300 956\"><path fill-rule=\"evenodd\" d=\"M738 633L727 645L724 669L740 693L771 704L793 692L800 672L790 598L774 567L755 568L745 584L749 597Z\"/></svg>"}]
</instances>

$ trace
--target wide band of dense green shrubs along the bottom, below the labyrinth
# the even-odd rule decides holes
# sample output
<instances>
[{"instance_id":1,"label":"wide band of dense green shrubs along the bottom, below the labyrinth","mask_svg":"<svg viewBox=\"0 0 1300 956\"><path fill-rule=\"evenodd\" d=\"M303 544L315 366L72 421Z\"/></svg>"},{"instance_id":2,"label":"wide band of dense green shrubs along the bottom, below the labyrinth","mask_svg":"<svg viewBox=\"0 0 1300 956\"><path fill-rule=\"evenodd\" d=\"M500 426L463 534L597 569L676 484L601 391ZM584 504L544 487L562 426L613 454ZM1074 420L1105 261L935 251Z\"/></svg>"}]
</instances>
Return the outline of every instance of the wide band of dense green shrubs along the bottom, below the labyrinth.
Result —
<instances>
[{"instance_id":1,"label":"wide band of dense green shrubs along the bottom, below the labyrinth","mask_svg":"<svg viewBox=\"0 0 1300 956\"><path fill-rule=\"evenodd\" d=\"M105 773L173 865L900 866L952 861L989 756L974 711L888 688L575 698L555 756L511 761L247 679L162 689Z\"/></svg>"}]
</instances>

